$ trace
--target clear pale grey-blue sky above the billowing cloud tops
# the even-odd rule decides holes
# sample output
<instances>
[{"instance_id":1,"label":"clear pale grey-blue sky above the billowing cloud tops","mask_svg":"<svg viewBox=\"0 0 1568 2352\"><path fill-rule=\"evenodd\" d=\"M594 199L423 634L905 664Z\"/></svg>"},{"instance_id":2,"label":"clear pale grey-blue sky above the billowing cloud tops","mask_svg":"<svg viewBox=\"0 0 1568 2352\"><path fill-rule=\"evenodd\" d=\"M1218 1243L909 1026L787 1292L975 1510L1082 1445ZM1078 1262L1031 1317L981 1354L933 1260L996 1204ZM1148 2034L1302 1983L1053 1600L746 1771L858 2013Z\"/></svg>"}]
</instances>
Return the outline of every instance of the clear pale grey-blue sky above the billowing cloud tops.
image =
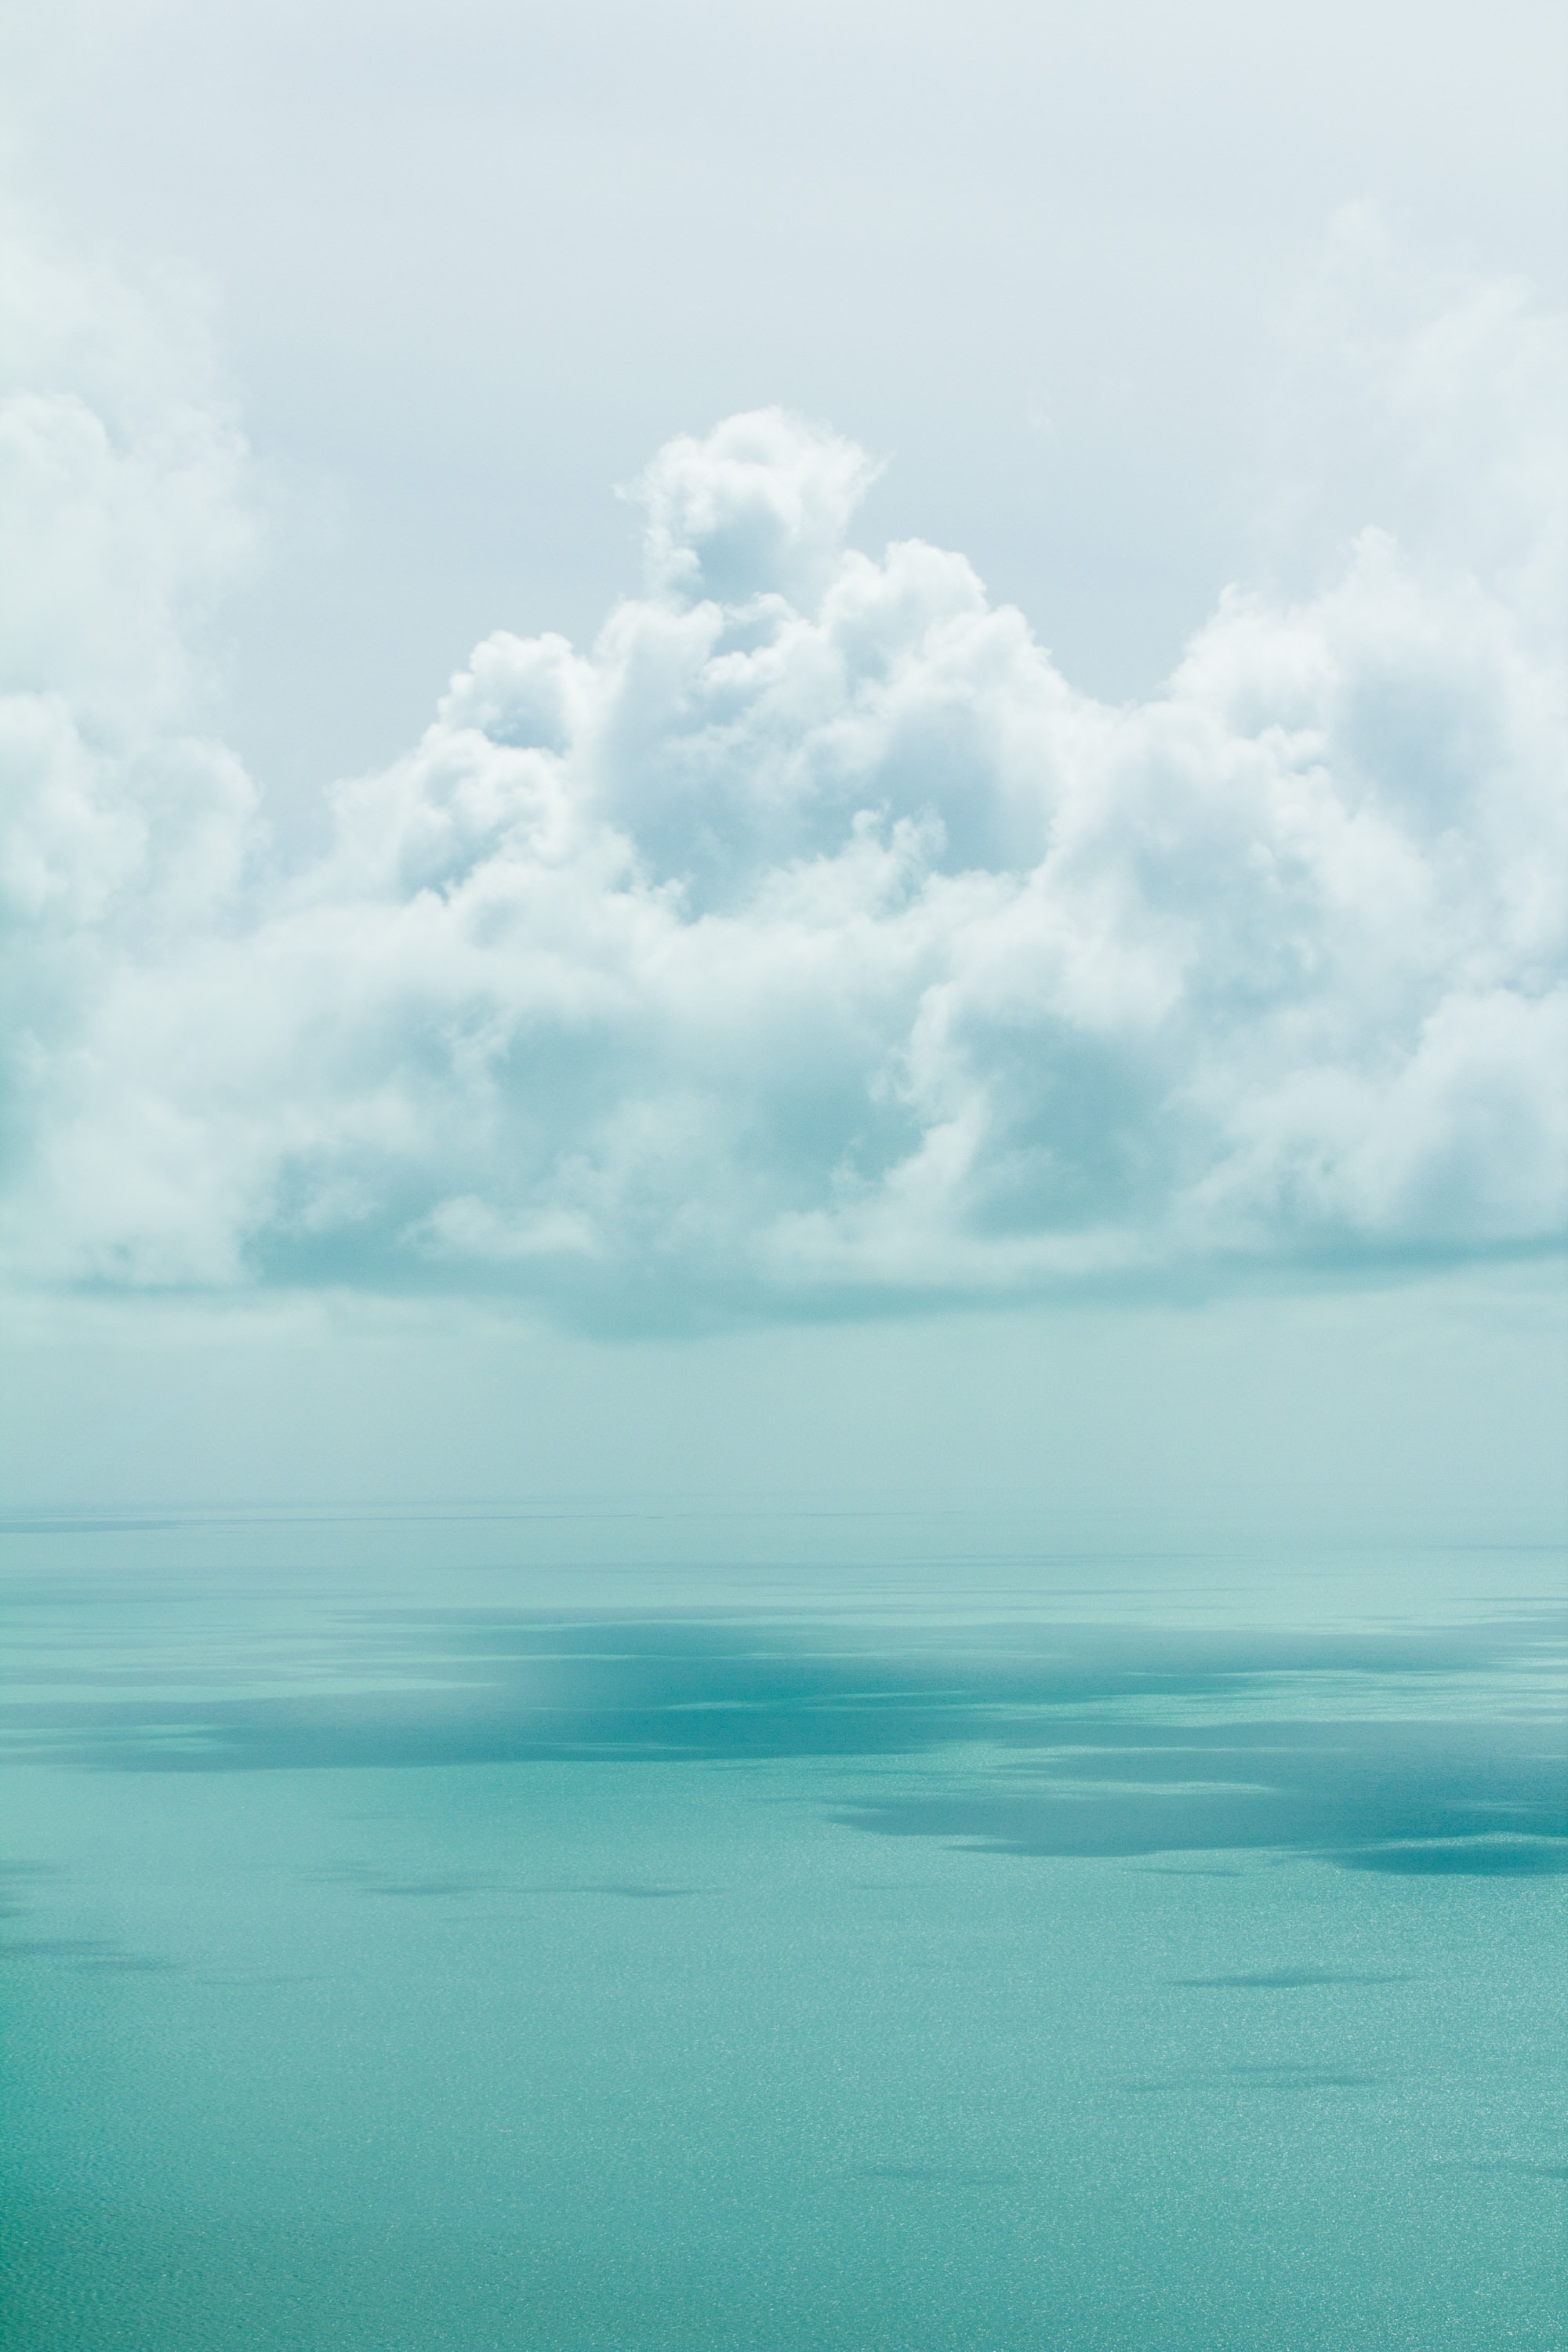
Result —
<instances>
[{"instance_id":1,"label":"clear pale grey-blue sky above the billowing cloud tops","mask_svg":"<svg viewBox=\"0 0 1568 2352\"><path fill-rule=\"evenodd\" d=\"M1098 694L1399 485L1293 320L1347 202L1563 301L1561 9L990 0L21 0L12 183L193 268L266 480L226 734L292 814L393 757L491 628L590 635L609 494L769 402L891 456L867 543L957 546ZM1316 360L1324 360L1319 343ZM1347 430L1349 428L1349 430ZM1307 452L1295 449L1305 461ZM1319 463L1319 473L1324 466Z\"/></svg>"}]
</instances>

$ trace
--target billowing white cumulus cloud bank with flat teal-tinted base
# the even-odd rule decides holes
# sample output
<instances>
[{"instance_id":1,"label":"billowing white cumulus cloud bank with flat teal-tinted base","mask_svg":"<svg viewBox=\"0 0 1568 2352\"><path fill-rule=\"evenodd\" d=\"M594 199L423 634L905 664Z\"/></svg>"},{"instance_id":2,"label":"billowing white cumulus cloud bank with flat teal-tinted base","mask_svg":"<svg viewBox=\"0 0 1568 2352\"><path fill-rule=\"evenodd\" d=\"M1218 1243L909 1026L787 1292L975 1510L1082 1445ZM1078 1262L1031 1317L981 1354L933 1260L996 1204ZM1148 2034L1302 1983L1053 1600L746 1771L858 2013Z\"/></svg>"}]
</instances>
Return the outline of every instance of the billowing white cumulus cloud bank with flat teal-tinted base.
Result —
<instances>
[{"instance_id":1,"label":"billowing white cumulus cloud bank with flat teal-tinted base","mask_svg":"<svg viewBox=\"0 0 1568 2352\"><path fill-rule=\"evenodd\" d=\"M21 1279L668 1322L1561 1242L1568 365L1514 292L1373 369L1458 520L1227 590L1133 708L961 555L846 546L875 468L825 426L677 440L642 595L480 644L282 877L190 717L237 430L42 358L0 409L54 550L0 703ZM1528 494L1465 560L1505 423Z\"/></svg>"}]
</instances>

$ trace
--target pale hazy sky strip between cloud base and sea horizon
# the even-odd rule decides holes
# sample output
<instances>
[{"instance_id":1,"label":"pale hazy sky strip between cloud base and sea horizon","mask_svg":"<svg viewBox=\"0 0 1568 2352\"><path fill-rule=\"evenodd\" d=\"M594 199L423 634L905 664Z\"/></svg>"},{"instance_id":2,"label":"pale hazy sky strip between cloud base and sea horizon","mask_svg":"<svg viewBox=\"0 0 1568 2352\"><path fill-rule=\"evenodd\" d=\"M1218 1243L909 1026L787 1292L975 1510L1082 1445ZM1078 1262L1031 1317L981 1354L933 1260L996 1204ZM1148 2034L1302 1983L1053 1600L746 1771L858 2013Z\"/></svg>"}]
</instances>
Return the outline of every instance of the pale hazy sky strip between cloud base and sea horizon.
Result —
<instances>
[{"instance_id":1,"label":"pale hazy sky strip between cloud base and sea horizon","mask_svg":"<svg viewBox=\"0 0 1568 2352\"><path fill-rule=\"evenodd\" d=\"M33 1305L5 1374L21 1512L522 1503L569 1559L870 1562L1542 1545L1568 1510L1540 1270L623 1345L473 1308Z\"/></svg>"}]
</instances>

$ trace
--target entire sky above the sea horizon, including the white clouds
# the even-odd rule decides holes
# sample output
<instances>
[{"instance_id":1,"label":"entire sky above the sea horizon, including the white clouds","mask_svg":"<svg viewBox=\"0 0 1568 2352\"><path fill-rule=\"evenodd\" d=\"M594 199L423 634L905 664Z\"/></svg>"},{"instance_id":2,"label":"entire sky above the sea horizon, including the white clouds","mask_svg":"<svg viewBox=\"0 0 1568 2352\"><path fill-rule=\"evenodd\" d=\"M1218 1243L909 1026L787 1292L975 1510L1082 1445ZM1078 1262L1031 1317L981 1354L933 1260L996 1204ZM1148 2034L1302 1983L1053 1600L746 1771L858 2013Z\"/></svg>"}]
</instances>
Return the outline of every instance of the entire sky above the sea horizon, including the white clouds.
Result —
<instances>
[{"instance_id":1,"label":"entire sky above the sea horizon, including the white clouds","mask_svg":"<svg viewBox=\"0 0 1568 2352\"><path fill-rule=\"evenodd\" d=\"M5 42L19 1508L1561 1529L1556 12Z\"/></svg>"}]
</instances>

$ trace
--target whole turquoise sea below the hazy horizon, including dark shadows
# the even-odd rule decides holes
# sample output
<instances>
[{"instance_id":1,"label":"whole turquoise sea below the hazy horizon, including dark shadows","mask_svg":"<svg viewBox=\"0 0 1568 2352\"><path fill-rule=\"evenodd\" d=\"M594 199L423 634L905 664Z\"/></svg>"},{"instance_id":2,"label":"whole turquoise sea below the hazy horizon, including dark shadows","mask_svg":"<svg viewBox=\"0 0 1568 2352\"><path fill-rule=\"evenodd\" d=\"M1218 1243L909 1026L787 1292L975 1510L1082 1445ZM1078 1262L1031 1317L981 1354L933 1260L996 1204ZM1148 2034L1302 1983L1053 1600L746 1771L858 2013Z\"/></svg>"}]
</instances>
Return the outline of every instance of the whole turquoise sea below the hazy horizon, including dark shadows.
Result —
<instances>
[{"instance_id":1,"label":"whole turquoise sea below the hazy horizon, including dark shadows","mask_svg":"<svg viewBox=\"0 0 1568 2352\"><path fill-rule=\"evenodd\" d=\"M7 2343L1566 2340L1561 1559L5 1550Z\"/></svg>"}]
</instances>

